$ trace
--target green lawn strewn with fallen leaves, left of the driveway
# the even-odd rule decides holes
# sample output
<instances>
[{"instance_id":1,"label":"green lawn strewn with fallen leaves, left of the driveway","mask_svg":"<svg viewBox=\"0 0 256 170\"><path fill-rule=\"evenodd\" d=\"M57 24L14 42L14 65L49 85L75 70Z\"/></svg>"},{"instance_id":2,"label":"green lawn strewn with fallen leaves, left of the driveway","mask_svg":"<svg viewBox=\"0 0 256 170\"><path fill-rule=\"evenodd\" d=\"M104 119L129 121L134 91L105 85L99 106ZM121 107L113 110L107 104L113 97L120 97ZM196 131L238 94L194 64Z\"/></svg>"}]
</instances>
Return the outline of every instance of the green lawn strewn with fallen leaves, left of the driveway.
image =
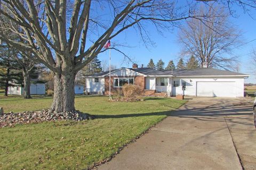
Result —
<instances>
[{"instance_id":1,"label":"green lawn strewn with fallen leaves, left of the driveway","mask_svg":"<svg viewBox=\"0 0 256 170\"><path fill-rule=\"evenodd\" d=\"M52 98L0 99L5 112L48 108ZM161 121L186 101L146 98L108 102L77 96L76 109L95 115L83 122L51 122L0 128L0 169L86 169Z\"/></svg>"}]
</instances>

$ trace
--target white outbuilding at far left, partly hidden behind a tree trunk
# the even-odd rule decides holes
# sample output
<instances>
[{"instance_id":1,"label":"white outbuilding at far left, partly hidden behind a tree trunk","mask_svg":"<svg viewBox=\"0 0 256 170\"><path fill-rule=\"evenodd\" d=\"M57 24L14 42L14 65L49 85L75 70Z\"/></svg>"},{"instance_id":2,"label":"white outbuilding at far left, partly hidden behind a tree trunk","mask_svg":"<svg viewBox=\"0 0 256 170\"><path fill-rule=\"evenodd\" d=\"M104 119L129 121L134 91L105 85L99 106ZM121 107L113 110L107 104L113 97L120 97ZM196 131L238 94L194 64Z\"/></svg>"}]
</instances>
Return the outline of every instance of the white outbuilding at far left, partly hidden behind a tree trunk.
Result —
<instances>
[{"instance_id":1,"label":"white outbuilding at far left, partly hidden behind a tree trunk","mask_svg":"<svg viewBox=\"0 0 256 170\"><path fill-rule=\"evenodd\" d=\"M23 87L21 87L21 85L9 86L8 94L22 95ZM45 94L45 84L44 83L31 84L30 94Z\"/></svg>"}]
</instances>

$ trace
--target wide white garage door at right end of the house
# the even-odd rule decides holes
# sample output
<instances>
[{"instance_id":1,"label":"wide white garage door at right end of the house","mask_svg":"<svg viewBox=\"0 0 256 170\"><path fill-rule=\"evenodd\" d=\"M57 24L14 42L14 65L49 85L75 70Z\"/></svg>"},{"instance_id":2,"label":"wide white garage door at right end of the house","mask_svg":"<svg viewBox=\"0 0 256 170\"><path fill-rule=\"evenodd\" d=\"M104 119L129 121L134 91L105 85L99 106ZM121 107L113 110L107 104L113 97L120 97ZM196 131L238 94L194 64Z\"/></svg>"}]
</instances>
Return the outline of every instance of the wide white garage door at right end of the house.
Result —
<instances>
[{"instance_id":1,"label":"wide white garage door at right end of the house","mask_svg":"<svg viewBox=\"0 0 256 170\"><path fill-rule=\"evenodd\" d=\"M197 96L235 97L235 82L197 82Z\"/></svg>"}]
</instances>

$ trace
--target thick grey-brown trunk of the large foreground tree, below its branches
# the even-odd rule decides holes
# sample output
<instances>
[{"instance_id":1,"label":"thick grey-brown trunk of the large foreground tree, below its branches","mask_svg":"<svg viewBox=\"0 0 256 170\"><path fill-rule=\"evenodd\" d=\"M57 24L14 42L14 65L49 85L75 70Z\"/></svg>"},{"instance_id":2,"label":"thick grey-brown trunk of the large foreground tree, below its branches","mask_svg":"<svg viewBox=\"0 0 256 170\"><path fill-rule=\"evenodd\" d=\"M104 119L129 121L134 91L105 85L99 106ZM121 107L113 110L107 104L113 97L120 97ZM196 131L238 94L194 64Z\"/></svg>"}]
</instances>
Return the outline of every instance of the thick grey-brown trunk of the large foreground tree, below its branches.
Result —
<instances>
[{"instance_id":1,"label":"thick grey-brown trunk of the large foreground tree, below its branches","mask_svg":"<svg viewBox=\"0 0 256 170\"><path fill-rule=\"evenodd\" d=\"M54 73L54 96L51 111L70 112L75 110L75 77L74 72Z\"/></svg>"}]
</instances>

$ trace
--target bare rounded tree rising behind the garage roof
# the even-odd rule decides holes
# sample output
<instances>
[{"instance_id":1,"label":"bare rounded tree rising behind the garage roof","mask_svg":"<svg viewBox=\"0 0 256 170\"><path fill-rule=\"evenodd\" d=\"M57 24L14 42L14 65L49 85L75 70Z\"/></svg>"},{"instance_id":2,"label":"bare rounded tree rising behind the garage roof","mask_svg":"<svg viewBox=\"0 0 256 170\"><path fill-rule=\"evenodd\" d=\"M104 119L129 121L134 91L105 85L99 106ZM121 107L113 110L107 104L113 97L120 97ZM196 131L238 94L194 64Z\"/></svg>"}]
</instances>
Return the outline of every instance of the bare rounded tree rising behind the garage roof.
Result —
<instances>
[{"instance_id":1,"label":"bare rounded tree rising behind the garage roof","mask_svg":"<svg viewBox=\"0 0 256 170\"><path fill-rule=\"evenodd\" d=\"M228 22L228 15L219 6L202 7L201 13L218 17L202 19L203 22L187 20L178 36L183 46L182 55L194 55L201 66L206 62L207 67L232 68L237 60L229 54L240 42L238 30Z\"/></svg>"}]
</instances>

